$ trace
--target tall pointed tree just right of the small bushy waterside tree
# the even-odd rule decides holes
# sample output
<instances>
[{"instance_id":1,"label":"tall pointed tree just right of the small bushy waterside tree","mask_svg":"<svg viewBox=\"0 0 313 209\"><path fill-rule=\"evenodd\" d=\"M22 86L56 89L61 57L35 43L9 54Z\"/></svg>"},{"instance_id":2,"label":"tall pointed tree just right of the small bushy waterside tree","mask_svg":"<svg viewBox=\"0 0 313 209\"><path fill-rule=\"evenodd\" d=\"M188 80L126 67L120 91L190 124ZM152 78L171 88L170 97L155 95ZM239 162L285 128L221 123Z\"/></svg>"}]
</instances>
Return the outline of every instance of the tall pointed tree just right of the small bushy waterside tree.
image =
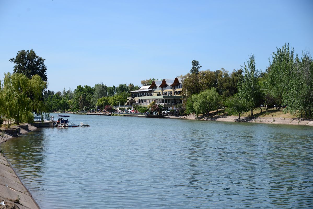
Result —
<instances>
[{"instance_id":1,"label":"tall pointed tree just right of the small bushy waterside tree","mask_svg":"<svg viewBox=\"0 0 313 209\"><path fill-rule=\"evenodd\" d=\"M247 65L248 64L248 65ZM261 89L258 83L259 71L255 69L255 58L252 54L244 63L244 77L239 83L239 96L249 102L251 117L253 117L253 108L259 105L261 98Z\"/></svg>"}]
</instances>

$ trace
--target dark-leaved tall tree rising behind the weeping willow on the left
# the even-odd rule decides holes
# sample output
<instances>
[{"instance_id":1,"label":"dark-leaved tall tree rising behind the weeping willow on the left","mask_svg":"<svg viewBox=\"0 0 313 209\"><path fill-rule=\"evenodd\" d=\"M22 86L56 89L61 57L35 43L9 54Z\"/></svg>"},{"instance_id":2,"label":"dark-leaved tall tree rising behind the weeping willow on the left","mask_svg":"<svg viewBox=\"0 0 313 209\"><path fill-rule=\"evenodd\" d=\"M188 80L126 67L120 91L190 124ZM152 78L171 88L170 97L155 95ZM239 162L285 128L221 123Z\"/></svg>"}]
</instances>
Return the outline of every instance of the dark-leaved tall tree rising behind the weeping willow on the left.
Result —
<instances>
[{"instance_id":1,"label":"dark-leaved tall tree rising behind the weeping willow on the left","mask_svg":"<svg viewBox=\"0 0 313 209\"><path fill-rule=\"evenodd\" d=\"M39 75L43 81L47 81L46 70L43 58L39 57L33 49L30 51L21 50L16 57L9 61L14 63L14 73L21 73L31 79L33 75Z\"/></svg>"}]
</instances>

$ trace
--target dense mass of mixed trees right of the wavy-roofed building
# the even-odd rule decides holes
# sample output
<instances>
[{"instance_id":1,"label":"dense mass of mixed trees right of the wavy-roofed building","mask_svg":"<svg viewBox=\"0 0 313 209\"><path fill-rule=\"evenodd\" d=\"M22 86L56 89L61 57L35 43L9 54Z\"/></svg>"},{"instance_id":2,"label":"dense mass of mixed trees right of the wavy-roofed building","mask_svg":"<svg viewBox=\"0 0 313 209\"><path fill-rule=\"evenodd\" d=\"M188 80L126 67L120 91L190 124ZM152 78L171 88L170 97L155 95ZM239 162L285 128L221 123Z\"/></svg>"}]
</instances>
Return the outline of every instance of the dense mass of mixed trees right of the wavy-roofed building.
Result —
<instances>
[{"instance_id":1,"label":"dense mass of mixed trees right of the wavy-roofed building","mask_svg":"<svg viewBox=\"0 0 313 209\"><path fill-rule=\"evenodd\" d=\"M308 52L301 58L285 44L273 52L269 67L262 72L255 68L255 56L249 56L241 69L231 74L225 69L200 71L192 60L190 73L183 76L184 103L181 113L209 115L219 107L230 114L251 111L261 105L284 107L284 112L312 116L313 62Z\"/></svg>"}]
</instances>

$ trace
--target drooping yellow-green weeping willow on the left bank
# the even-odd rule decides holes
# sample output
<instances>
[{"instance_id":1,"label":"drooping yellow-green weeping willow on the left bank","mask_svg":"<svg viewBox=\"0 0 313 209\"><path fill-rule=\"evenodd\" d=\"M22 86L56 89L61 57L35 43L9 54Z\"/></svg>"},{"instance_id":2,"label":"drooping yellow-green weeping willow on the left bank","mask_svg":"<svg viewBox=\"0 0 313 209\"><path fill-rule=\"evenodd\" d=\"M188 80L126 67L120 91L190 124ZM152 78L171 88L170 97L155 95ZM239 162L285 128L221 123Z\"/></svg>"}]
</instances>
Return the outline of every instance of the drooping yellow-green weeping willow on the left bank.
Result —
<instances>
[{"instance_id":1,"label":"drooping yellow-green weeping willow on the left bank","mask_svg":"<svg viewBox=\"0 0 313 209\"><path fill-rule=\"evenodd\" d=\"M31 79L23 74L4 74L3 84L0 84L0 115L20 122L33 121L33 112L43 120L49 114L49 108L42 100L42 92L47 86L39 75Z\"/></svg>"}]
</instances>

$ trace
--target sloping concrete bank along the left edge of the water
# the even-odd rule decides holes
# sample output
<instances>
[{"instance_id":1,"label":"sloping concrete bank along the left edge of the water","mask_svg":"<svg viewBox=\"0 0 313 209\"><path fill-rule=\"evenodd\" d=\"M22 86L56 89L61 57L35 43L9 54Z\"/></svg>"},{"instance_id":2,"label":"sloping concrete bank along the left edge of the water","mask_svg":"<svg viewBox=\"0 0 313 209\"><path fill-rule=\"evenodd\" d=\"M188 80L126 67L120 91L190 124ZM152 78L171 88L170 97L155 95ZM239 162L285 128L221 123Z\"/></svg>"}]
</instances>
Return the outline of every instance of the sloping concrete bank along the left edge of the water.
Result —
<instances>
[{"instance_id":1,"label":"sloping concrete bank along the left edge of the water","mask_svg":"<svg viewBox=\"0 0 313 209\"><path fill-rule=\"evenodd\" d=\"M18 135L28 133L36 130L35 126L30 124L23 124L21 127L11 126L11 128L20 128ZM2 132L0 138L0 145L7 140L12 139L13 135ZM5 150L4 150L5 151ZM18 201L19 199L19 201ZM20 209L39 209L40 207L33 199L28 189L22 183L12 165L1 151L0 155L0 202L4 201L6 204L15 204ZM17 203L19 202L19 203ZM13 208L13 207L12 207Z\"/></svg>"}]
</instances>

